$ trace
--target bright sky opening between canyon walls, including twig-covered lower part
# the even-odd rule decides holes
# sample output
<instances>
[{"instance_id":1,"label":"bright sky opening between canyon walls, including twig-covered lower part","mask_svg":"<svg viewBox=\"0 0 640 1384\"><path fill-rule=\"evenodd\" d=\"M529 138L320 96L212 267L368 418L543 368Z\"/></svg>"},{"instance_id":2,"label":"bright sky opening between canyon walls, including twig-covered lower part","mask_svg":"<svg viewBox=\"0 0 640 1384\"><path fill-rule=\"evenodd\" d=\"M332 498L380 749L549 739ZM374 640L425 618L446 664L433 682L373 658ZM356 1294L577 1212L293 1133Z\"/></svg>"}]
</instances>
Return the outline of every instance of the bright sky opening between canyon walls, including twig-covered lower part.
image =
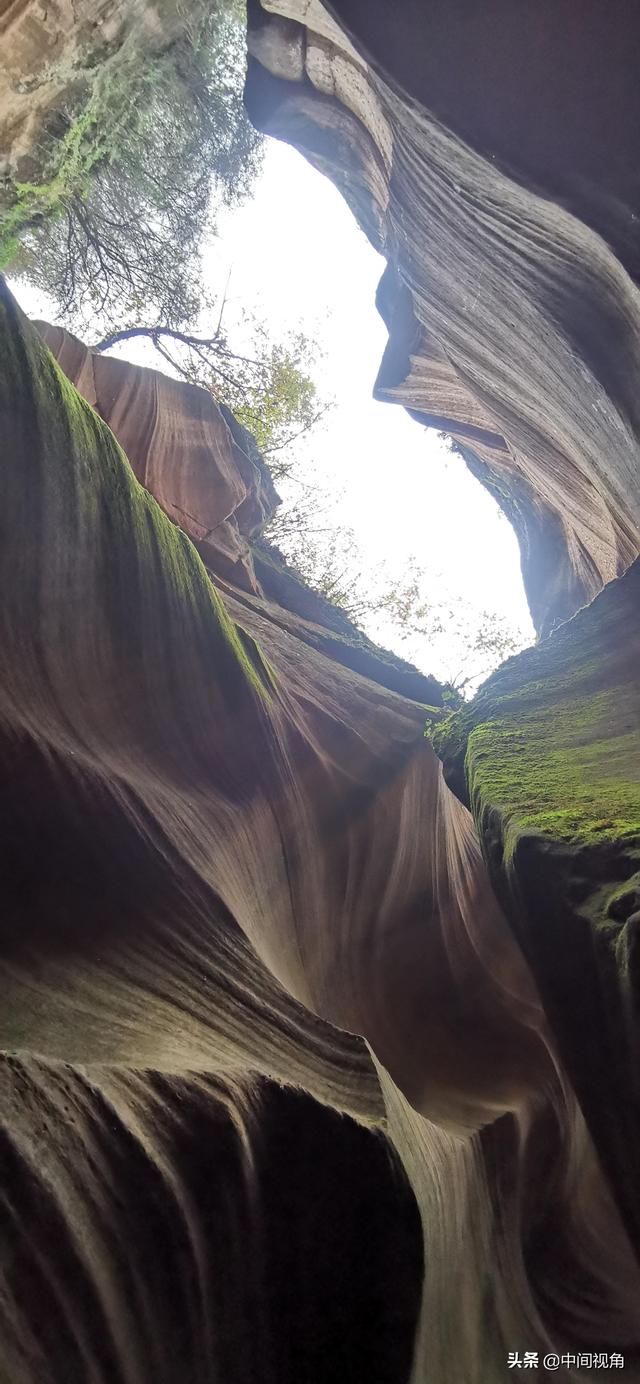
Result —
<instances>
[{"instance_id":1,"label":"bright sky opening between canyon walls, including twig-covered lower part","mask_svg":"<svg viewBox=\"0 0 640 1384\"><path fill-rule=\"evenodd\" d=\"M402 404L389 407L391 396L374 397L388 338L375 306L382 256L331 181L269 136L251 194L222 213L213 194L202 233L206 307L188 332L206 338L215 324L251 360L265 338L269 349L301 343L314 389L308 419L265 430L280 504L259 541L375 644L472 695L535 639L518 544L442 428L416 425ZM29 317L75 325L29 278L12 286ZM89 303L79 316L83 340L100 342L104 314ZM176 370L148 336L112 335L114 358L180 378L188 357L180 342L161 339ZM224 397L226 381L211 378ZM278 381L269 388L277 392Z\"/></svg>"}]
</instances>

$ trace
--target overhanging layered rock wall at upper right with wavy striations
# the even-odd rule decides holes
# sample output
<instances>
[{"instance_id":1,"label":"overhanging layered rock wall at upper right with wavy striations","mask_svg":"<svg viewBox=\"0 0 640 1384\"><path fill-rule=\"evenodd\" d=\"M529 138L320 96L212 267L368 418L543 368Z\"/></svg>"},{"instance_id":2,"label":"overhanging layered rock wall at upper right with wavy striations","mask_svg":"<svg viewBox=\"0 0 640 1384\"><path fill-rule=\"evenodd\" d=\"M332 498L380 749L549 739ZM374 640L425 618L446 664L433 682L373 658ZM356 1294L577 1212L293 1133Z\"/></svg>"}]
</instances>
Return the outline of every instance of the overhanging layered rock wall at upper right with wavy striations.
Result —
<instances>
[{"instance_id":1,"label":"overhanging layered rock wall at upper right with wavy striations","mask_svg":"<svg viewBox=\"0 0 640 1384\"><path fill-rule=\"evenodd\" d=\"M639 552L640 14L587 0L249 4L247 104L389 263L375 392L514 523L547 632ZM585 91L590 98L585 100ZM634 131L632 134L632 131Z\"/></svg>"}]
</instances>

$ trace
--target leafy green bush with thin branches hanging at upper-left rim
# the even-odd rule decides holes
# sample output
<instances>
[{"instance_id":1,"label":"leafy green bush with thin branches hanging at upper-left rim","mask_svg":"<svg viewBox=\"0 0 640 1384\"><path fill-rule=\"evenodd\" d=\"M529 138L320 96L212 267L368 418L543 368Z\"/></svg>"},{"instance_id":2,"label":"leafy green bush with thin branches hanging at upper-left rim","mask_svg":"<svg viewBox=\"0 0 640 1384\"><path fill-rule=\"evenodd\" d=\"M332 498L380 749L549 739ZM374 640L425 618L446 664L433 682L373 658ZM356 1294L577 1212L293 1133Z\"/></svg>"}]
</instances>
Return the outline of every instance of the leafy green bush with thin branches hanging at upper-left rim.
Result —
<instances>
[{"instance_id":1,"label":"leafy green bush with thin branches hanging at upper-left rim","mask_svg":"<svg viewBox=\"0 0 640 1384\"><path fill-rule=\"evenodd\" d=\"M66 327L107 335L141 317L175 329L197 321L212 197L240 201L260 165L244 66L244 26L230 0L206 8L159 57L143 61L130 46L105 64L51 154L53 201L33 190L17 266Z\"/></svg>"}]
</instances>

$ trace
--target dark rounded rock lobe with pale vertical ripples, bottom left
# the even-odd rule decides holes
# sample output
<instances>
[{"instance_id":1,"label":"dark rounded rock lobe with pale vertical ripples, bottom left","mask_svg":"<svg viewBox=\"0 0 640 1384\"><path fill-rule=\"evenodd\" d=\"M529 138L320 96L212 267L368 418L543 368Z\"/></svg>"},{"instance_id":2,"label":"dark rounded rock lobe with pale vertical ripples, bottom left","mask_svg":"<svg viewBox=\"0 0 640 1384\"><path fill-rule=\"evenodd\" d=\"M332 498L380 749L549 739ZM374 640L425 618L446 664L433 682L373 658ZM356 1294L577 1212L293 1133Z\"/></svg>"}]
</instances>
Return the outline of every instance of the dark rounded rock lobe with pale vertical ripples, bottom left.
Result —
<instances>
[{"instance_id":1,"label":"dark rounded rock lobe with pale vertical ripples, bottom left","mask_svg":"<svg viewBox=\"0 0 640 1384\"><path fill-rule=\"evenodd\" d=\"M0 1091L3 1381L407 1376L421 1239L380 1138L255 1077L6 1059Z\"/></svg>"}]
</instances>

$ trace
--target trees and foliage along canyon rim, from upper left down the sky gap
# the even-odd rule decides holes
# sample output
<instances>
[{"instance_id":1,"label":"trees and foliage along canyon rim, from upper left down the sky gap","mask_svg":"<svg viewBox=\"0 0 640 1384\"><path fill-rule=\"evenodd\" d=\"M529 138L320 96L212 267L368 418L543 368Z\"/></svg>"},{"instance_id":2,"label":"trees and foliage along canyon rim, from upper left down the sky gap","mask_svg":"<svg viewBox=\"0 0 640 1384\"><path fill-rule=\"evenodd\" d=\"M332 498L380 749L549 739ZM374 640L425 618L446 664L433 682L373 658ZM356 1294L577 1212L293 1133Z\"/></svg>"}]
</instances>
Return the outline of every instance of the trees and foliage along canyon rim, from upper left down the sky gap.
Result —
<instances>
[{"instance_id":1,"label":"trees and foliage along canyon rim, from upper left down the sky gap","mask_svg":"<svg viewBox=\"0 0 640 1384\"><path fill-rule=\"evenodd\" d=\"M145 338L161 368L209 389L254 433L284 502L266 526L294 570L374 632L402 642L446 630L464 645L449 671L464 693L519 646L504 620L460 598L425 595L416 559L363 570L356 534L309 475L296 443L331 407L305 331L276 340L251 307L229 329L226 295L206 286L202 242L220 208L251 195L262 137L242 105L244 6L219 0L163 53L133 33L100 66L85 104L57 112L42 179L15 184L0 226L0 264L46 292L57 320L97 350ZM6 198L7 201L7 198Z\"/></svg>"}]
</instances>

